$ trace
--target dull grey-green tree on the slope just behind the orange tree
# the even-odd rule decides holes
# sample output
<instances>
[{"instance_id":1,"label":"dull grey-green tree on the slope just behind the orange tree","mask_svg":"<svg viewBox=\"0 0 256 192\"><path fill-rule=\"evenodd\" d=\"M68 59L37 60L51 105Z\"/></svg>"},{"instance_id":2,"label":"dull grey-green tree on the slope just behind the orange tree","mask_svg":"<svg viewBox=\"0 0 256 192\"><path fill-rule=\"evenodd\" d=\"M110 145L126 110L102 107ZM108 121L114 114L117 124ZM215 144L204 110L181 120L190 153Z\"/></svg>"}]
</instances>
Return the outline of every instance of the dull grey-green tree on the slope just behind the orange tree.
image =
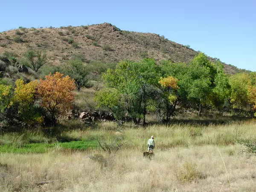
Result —
<instances>
[{"instance_id":1,"label":"dull grey-green tree on the slope just behind the orange tree","mask_svg":"<svg viewBox=\"0 0 256 192\"><path fill-rule=\"evenodd\" d=\"M92 87L92 84L90 84L87 77L90 74L90 71L86 66L84 66L81 60L75 59L67 61L67 64L64 66L63 73L75 80L76 88L79 91L81 87Z\"/></svg>"}]
</instances>

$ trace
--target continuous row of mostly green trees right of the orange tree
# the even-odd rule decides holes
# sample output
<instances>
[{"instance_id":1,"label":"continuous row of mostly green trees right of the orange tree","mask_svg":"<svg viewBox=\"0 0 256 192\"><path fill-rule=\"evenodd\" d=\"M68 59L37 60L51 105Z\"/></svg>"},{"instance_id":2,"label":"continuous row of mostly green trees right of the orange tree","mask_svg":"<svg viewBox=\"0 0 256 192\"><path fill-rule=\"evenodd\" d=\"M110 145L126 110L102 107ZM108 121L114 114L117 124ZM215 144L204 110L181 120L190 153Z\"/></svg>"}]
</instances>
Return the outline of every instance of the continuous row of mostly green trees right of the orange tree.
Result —
<instances>
[{"instance_id":1,"label":"continuous row of mostly green trees right of the orange tree","mask_svg":"<svg viewBox=\"0 0 256 192\"><path fill-rule=\"evenodd\" d=\"M145 125L148 111L169 122L179 108L256 108L256 73L228 76L220 62L212 63L199 53L189 64L153 59L122 61L102 75L105 88L95 95L98 108L110 110L117 120L127 117ZM178 108L177 108L178 107Z\"/></svg>"}]
</instances>

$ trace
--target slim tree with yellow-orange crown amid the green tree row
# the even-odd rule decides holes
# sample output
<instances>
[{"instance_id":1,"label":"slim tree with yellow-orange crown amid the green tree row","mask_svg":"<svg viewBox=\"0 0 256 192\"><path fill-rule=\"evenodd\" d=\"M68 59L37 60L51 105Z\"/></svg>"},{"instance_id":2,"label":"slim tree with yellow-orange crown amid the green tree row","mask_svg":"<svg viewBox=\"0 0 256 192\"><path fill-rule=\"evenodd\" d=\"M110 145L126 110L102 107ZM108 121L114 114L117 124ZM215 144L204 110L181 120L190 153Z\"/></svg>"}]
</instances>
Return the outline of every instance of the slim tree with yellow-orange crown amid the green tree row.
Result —
<instances>
[{"instance_id":1,"label":"slim tree with yellow-orange crown amid the green tree row","mask_svg":"<svg viewBox=\"0 0 256 192\"><path fill-rule=\"evenodd\" d=\"M168 76L166 78L161 77L160 81L158 83L160 84L161 87L161 98L162 102L160 102L159 105L163 105L163 112L159 112L160 116L165 115L166 116L166 122L169 122L170 117L173 115L176 104L178 101L178 95L177 95L177 90L178 90L178 85L177 85L178 79ZM159 111L160 111L159 107Z\"/></svg>"}]
</instances>

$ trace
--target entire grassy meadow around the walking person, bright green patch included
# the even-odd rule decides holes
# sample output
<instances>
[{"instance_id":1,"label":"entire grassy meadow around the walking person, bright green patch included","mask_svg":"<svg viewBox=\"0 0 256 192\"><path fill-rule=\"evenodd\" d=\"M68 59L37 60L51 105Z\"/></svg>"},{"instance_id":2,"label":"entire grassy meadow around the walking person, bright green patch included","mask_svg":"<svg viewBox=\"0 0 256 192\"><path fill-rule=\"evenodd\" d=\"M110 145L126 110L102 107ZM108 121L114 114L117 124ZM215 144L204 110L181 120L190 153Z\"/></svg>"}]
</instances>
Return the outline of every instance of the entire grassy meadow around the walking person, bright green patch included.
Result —
<instances>
[{"instance_id":1,"label":"entire grassy meadow around the walking person, bright green patch included","mask_svg":"<svg viewBox=\"0 0 256 192\"><path fill-rule=\"evenodd\" d=\"M101 122L58 137L42 130L6 133L0 191L256 191L256 157L241 154L236 142L255 138L255 128L253 120L146 128ZM149 160L142 153L151 135L156 148Z\"/></svg>"}]
</instances>

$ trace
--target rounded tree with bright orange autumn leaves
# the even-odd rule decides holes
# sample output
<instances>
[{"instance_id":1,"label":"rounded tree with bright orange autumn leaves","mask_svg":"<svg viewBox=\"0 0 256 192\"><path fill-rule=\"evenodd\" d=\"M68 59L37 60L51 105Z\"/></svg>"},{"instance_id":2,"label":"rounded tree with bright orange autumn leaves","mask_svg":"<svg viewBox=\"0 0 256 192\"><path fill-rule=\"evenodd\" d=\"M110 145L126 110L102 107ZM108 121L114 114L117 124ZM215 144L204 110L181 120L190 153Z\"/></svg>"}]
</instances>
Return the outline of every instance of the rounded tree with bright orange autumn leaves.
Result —
<instances>
[{"instance_id":1,"label":"rounded tree with bright orange autumn leaves","mask_svg":"<svg viewBox=\"0 0 256 192\"><path fill-rule=\"evenodd\" d=\"M38 96L41 97L41 106L50 113L50 118L56 124L56 114L70 109L74 101L76 88L73 79L59 72L45 76L38 84Z\"/></svg>"}]
</instances>

